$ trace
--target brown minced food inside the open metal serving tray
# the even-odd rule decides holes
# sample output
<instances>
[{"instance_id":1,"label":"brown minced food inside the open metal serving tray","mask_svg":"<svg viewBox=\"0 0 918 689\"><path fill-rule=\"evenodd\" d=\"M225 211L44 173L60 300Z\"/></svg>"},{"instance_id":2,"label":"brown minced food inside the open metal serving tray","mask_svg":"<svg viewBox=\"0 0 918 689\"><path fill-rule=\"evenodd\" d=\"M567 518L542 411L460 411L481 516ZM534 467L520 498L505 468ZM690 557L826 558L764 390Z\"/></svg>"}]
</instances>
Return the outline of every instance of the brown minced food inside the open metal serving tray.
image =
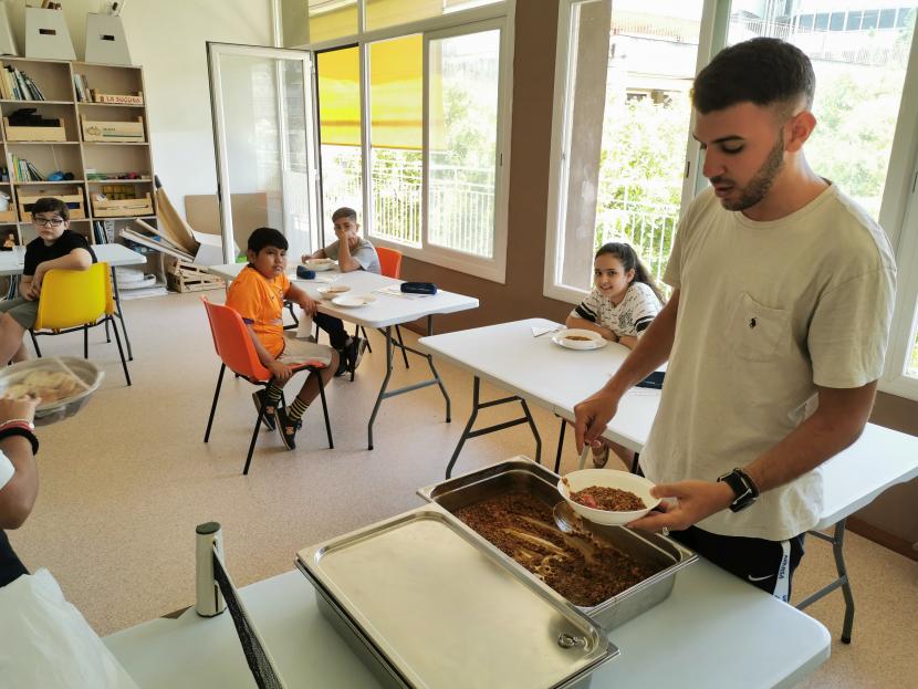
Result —
<instances>
[{"instance_id":1,"label":"brown minced food inside the open metal serving tray","mask_svg":"<svg viewBox=\"0 0 918 689\"><path fill-rule=\"evenodd\" d=\"M574 605L593 607L656 574L592 534L565 534L552 508L529 493L507 493L456 516Z\"/></svg>"}]
</instances>

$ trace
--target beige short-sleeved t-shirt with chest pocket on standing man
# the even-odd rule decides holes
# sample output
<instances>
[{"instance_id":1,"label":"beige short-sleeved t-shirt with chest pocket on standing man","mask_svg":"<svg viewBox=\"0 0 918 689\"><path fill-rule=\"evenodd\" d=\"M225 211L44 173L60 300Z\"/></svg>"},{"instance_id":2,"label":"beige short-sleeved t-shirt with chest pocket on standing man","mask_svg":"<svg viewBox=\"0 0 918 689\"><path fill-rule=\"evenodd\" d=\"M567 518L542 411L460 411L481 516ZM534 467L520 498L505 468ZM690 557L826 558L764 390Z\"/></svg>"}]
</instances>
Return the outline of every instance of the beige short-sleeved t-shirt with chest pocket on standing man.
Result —
<instances>
[{"instance_id":1,"label":"beige short-sleeved t-shirt with chest pocket on standing man","mask_svg":"<svg viewBox=\"0 0 918 689\"><path fill-rule=\"evenodd\" d=\"M691 203L664 280L680 290L660 407L640 463L657 483L714 480L781 441L815 409L816 385L854 388L883 372L896 268L883 230L830 185L780 220ZM812 529L820 469L741 512L698 523L783 541Z\"/></svg>"}]
</instances>

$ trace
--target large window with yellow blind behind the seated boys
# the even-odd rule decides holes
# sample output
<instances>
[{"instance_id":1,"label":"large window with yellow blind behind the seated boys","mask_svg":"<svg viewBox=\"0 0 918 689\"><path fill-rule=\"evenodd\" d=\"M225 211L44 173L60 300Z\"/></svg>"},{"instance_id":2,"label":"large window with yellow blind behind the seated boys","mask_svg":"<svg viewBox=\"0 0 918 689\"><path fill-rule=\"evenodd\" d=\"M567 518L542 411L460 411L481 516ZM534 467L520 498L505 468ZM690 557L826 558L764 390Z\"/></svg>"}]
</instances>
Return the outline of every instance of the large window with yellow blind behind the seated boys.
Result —
<instances>
[{"instance_id":1,"label":"large window with yellow blind behind the seated boys","mask_svg":"<svg viewBox=\"0 0 918 689\"><path fill-rule=\"evenodd\" d=\"M512 19L502 3L480 0L369 0L365 9L367 21L385 23L435 6L436 19L317 53L326 240L331 211L351 206L374 242L502 282Z\"/></svg>"}]
</instances>

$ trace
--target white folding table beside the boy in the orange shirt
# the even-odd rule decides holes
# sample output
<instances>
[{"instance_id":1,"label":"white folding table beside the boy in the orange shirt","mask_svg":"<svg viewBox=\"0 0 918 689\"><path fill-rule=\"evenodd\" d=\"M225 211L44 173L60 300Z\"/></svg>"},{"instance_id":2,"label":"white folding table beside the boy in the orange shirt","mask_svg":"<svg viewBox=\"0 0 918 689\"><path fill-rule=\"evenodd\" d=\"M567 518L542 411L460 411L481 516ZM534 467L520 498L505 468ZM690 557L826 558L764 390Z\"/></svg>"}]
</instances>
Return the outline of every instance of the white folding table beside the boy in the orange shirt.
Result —
<instances>
[{"instance_id":1,"label":"white folding table beside the boy in the orange shirt","mask_svg":"<svg viewBox=\"0 0 918 689\"><path fill-rule=\"evenodd\" d=\"M208 271L215 275L232 281L244 268L243 263L227 263L223 265L211 265ZM350 273L340 273L337 271L325 271L319 273L316 280L300 280L296 274L290 275L292 282L298 286L303 288L306 292L316 300L319 311L327 313L343 321L356 323L364 327L375 327L386 336L386 375L383 378L383 385L379 387L379 393L376 396L376 404L373 406L373 413L369 416L367 424L367 449L373 449L373 424L376 420L376 415L379 413L379 405L384 399L410 393L423 387L437 385L446 401L446 420L451 419L450 400L446 392L444 382L440 379L437 368L434 366L434 359L427 352L419 352L403 343L395 343L393 341L393 327L403 323L417 321L418 319L427 319L427 334L434 334L434 316L444 313L456 313L457 311L466 311L468 309L477 309L478 300L472 296L465 296L453 292L440 290L432 296L419 295L394 295L388 293L379 293L378 290L401 284L401 280L394 278L386 278L377 275L376 273L368 273L363 270L352 271ZM316 291L321 286L327 286L325 280L334 280L333 284L345 284L351 288L348 295L355 294L373 294L376 301L359 306L356 309L338 306L333 304L331 300L322 299L322 295ZM399 293L400 294L400 293ZM430 370L434 374L432 378L406 385L394 390L388 389L389 378L393 372L393 351L394 347L399 347L403 352L411 352L423 357Z\"/></svg>"}]
</instances>

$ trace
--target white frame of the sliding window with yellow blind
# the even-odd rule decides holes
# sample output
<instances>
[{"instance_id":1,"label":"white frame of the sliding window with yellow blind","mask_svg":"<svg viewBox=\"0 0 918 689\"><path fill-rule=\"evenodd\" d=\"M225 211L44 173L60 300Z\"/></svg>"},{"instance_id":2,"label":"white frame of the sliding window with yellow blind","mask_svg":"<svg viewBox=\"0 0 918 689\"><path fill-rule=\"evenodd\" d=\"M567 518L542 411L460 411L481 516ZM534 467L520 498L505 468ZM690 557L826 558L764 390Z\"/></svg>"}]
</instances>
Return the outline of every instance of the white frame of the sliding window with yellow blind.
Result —
<instances>
[{"instance_id":1,"label":"white frame of the sliding window with yellow blind","mask_svg":"<svg viewBox=\"0 0 918 689\"><path fill-rule=\"evenodd\" d=\"M515 17L515 0L505 0L493 4L462 10L459 12L441 14L417 22L387 27L377 31L363 31L364 2L358 2L358 34L342 36L332 41L310 44L310 50L322 51L335 48L344 48L357 44L361 59L361 150L363 156L363 201L364 218L363 226L365 236L378 247L387 247L400 251L404 255L431 263L441 268L448 268L462 273L483 278L492 282L505 283L507 281L507 241L508 241L508 189L510 177L510 125L511 106L513 92L513 24ZM493 255L492 258L477 257L474 254L456 251L427 243L427 165L428 165L428 43L429 39L441 39L450 35L462 35L499 29L501 32L500 43L500 72L498 82L498 122L495 138L495 175L494 175L494 227L493 227ZM424 123L423 123L423 207L421 207L421 246L414 247L395 242L382 237L374 236L372 209L372 160L369 156L369 97L367 84L369 83L369 51L368 45L377 41L397 39L411 34L421 34L424 38ZM324 219L323 219L324 220Z\"/></svg>"}]
</instances>

